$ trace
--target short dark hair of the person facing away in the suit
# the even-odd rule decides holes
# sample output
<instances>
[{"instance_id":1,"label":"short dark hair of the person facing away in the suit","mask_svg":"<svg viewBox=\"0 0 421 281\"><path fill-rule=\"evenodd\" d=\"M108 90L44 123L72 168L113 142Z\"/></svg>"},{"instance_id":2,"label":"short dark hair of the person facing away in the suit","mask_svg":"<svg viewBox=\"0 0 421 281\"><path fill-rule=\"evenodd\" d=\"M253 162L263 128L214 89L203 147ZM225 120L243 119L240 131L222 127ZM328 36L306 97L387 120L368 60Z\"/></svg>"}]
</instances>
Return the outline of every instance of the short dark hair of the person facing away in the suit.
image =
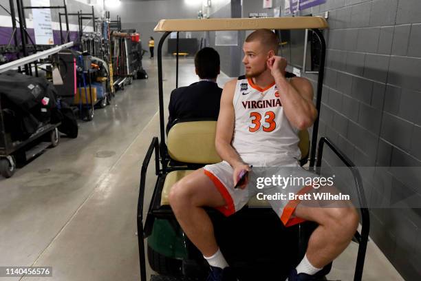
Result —
<instances>
[{"instance_id":1,"label":"short dark hair of the person facing away in the suit","mask_svg":"<svg viewBox=\"0 0 421 281\"><path fill-rule=\"evenodd\" d=\"M219 54L209 47L205 47L195 55L195 67L200 79L215 79L219 74Z\"/></svg>"}]
</instances>

